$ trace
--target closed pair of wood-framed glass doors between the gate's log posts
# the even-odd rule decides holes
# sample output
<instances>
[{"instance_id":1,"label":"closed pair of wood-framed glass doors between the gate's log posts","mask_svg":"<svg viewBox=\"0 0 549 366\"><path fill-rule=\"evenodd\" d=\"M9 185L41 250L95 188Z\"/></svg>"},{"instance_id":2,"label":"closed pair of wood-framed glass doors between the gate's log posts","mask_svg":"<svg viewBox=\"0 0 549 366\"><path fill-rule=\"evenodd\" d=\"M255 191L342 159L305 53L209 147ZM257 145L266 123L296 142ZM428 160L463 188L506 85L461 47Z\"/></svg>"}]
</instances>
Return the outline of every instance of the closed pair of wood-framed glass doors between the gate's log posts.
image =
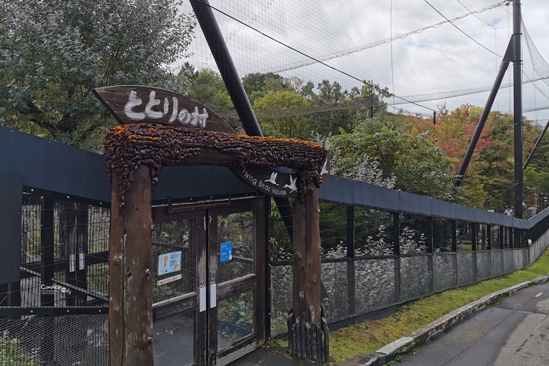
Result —
<instances>
[{"instance_id":1,"label":"closed pair of wood-framed glass doors between the gate's log posts","mask_svg":"<svg viewBox=\"0 0 549 366\"><path fill-rule=\"evenodd\" d=\"M264 343L264 198L152 218L154 363L226 365Z\"/></svg>"}]
</instances>

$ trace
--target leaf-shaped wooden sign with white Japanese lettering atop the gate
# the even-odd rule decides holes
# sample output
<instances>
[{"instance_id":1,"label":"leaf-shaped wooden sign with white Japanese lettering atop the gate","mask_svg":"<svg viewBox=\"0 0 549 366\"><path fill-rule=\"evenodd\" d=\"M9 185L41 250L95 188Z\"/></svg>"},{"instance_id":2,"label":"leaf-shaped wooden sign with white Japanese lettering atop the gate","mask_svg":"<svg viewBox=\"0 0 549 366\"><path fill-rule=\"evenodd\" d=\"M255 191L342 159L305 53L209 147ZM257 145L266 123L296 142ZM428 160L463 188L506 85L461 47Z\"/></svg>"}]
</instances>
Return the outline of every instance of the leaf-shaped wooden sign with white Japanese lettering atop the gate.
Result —
<instances>
[{"instance_id":1,"label":"leaf-shaped wooden sign with white Japanese lettering atop the gate","mask_svg":"<svg viewBox=\"0 0 549 366\"><path fill-rule=\"evenodd\" d=\"M93 89L93 94L120 124L146 122L235 133L210 108L173 91L139 85L117 85Z\"/></svg>"}]
</instances>

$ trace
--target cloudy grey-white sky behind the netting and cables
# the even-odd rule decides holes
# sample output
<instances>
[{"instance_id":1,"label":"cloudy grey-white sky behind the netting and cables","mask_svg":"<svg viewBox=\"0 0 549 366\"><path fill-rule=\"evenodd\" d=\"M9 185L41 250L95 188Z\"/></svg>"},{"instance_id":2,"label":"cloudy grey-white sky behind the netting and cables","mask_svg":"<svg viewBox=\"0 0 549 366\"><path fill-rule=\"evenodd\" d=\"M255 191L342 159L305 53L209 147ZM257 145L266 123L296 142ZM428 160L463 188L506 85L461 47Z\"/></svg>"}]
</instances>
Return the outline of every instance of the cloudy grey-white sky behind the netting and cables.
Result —
<instances>
[{"instance_id":1,"label":"cloudy grey-white sky behind the netting and cables","mask_svg":"<svg viewBox=\"0 0 549 366\"><path fill-rule=\"evenodd\" d=\"M397 104L397 110L425 115L432 115L441 104L449 110L466 103L484 106L487 91L449 96L463 89L491 87L512 34L512 3L498 5L504 3L494 0L210 3L241 77L273 71L315 84L337 81L344 89L360 87L359 80L373 80L399 97L423 100L419 106ZM522 17L539 53L549 60L549 1L523 0ZM198 27L190 49L193 56L181 62L217 69L200 33ZM523 54L523 78L536 78L525 43ZM512 82L512 75L511 65L503 83ZM524 85L524 108L549 107L546 82ZM429 98L434 100L425 100ZM493 109L512 113L511 88L500 90ZM549 109L524 115L542 124Z\"/></svg>"}]
</instances>

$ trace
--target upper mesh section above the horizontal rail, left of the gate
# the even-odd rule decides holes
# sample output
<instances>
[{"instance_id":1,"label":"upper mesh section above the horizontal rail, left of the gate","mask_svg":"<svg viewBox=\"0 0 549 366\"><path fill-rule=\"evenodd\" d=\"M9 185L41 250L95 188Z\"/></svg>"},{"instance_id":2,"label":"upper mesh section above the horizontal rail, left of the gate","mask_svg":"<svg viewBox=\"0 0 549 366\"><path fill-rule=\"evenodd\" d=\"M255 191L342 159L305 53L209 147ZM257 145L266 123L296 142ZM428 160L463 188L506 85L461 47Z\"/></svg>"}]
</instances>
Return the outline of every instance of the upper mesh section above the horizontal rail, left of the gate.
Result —
<instances>
[{"instance_id":1,"label":"upper mesh section above the horizontal rail, left of the gate","mask_svg":"<svg viewBox=\"0 0 549 366\"><path fill-rule=\"evenodd\" d=\"M25 194L12 306L106 306L109 209Z\"/></svg>"}]
</instances>

